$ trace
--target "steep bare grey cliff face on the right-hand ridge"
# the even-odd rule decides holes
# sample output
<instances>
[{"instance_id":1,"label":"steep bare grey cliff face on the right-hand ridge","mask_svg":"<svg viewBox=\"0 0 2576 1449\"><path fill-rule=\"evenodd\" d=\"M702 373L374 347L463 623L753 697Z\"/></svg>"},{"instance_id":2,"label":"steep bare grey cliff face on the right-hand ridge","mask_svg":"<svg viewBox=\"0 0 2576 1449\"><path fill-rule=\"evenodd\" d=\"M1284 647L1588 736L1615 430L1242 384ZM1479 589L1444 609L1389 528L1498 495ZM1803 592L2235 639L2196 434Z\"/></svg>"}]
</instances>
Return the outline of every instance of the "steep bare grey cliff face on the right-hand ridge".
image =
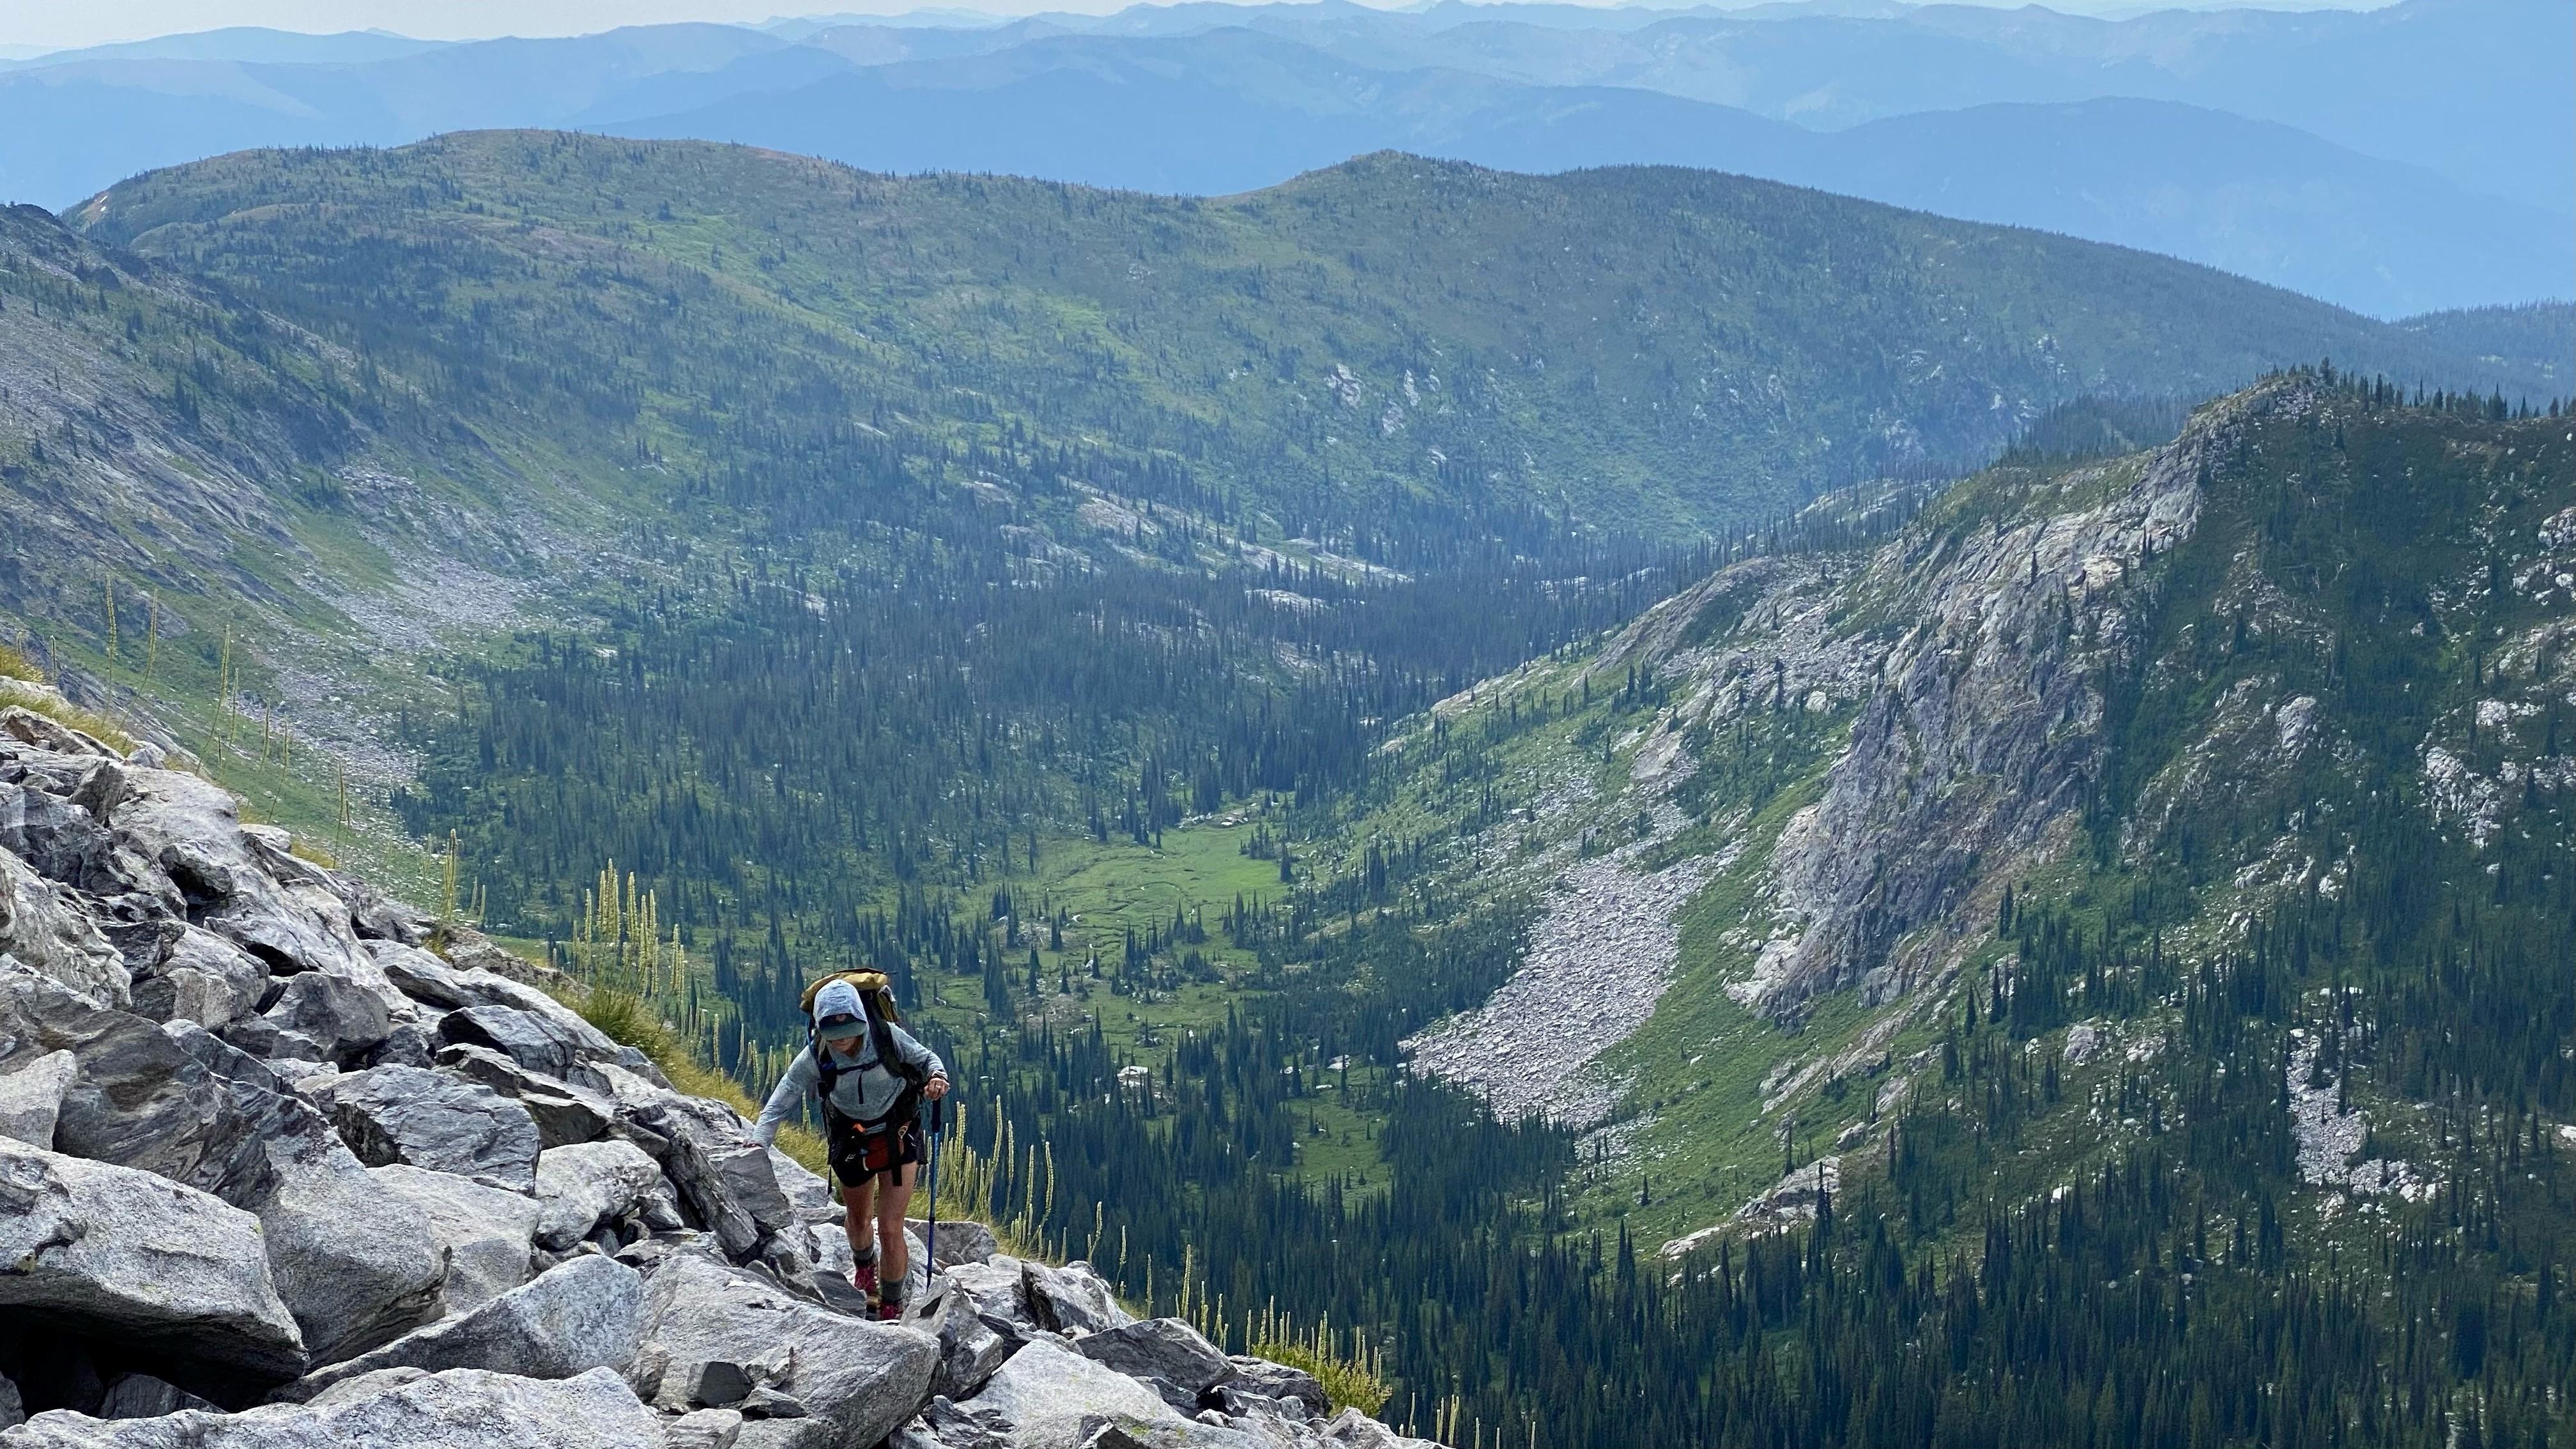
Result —
<instances>
[{"instance_id":1,"label":"steep bare grey cliff face on the right-hand ridge","mask_svg":"<svg viewBox=\"0 0 2576 1449\"><path fill-rule=\"evenodd\" d=\"M2136 663L2146 565L2190 539L2200 477L2282 397L2213 407L2172 446L2020 498L1960 500L1839 588L1816 650L1870 665L1824 799L1772 851L1777 933L1734 995L1780 1013L1860 985L1888 1000L1953 962L1906 941L2027 864L2102 776L2105 681ZM1868 629L1883 647L1870 647ZM1850 670L1844 670L1850 673Z\"/></svg>"}]
</instances>

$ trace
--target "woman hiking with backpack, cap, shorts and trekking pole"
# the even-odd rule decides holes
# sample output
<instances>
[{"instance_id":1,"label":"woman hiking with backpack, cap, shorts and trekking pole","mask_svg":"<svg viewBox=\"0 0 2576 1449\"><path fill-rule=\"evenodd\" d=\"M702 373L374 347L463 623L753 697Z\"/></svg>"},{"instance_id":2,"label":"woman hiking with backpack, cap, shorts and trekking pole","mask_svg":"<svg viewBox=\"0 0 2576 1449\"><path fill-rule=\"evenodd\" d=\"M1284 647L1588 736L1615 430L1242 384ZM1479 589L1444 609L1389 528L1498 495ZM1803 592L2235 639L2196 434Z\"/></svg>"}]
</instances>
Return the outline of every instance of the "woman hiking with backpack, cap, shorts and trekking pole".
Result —
<instances>
[{"instance_id":1,"label":"woman hiking with backpack, cap, shorts and trekking pole","mask_svg":"<svg viewBox=\"0 0 2576 1449\"><path fill-rule=\"evenodd\" d=\"M904 1209L912 1207L912 1173L922 1160L914 1114L922 1101L948 1096L948 1065L845 980L824 982L811 1011L814 1044L796 1052L788 1075L760 1109L755 1132L762 1142L775 1142L778 1124L806 1093L822 1098L832 1176L840 1178L842 1232L858 1261L850 1284L873 1297L876 1315L891 1323L904 1315L904 1279L912 1271Z\"/></svg>"}]
</instances>

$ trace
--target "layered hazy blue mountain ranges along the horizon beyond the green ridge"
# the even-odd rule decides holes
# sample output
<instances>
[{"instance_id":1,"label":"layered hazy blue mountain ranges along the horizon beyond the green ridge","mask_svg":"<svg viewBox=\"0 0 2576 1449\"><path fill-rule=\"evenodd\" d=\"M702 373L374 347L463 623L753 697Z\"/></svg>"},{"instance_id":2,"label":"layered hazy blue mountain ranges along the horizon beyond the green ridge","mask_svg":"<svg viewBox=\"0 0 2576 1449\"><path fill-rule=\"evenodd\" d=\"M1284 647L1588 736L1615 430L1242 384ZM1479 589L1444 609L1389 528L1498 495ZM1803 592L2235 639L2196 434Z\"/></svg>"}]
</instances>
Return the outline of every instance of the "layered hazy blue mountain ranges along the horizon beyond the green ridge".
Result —
<instances>
[{"instance_id":1,"label":"layered hazy blue mountain ranges along the horizon beyond the green ridge","mask_svg":"<svg viewBox=\"0 0 2576 1449\"><path fill-rule=\"evenodd\" d=\"M0 193L567 126L1236 193L1370 150L1736 170L2396 317L2576 294L2576 5L2352 13L1139 5L549 41L206 31L0 67Z\"/></svg>"}]
</instances>

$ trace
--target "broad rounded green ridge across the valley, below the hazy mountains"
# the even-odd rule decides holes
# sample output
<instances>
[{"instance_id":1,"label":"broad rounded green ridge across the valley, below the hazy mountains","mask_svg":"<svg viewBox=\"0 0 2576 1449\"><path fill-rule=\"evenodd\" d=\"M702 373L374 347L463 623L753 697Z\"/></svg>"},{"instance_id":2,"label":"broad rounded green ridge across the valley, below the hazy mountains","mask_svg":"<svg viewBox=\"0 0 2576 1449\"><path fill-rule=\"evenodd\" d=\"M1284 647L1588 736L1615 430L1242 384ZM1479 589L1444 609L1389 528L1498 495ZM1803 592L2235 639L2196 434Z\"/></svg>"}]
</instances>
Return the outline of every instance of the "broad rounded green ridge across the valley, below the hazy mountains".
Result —
<instances>
[{"instance_id":1,"label":"broad rounded green ridge across the valley, below the hazy mountains","mask_svg":"<svg viewBox=\"0 0 2576 1449\"><path fill-rule=\"evenodd\" d=\"M1687 531L1971 462L2076 392L2473 366L2205 268L1654 168L1378 155L1193 201L497 131L219 157L72 222L495 425L677 477L819 469L809 511L866 423L981 449L961 472L1005 487L1097 449L1283 518L1515 503ZM2476 369L2455 382L2527 387Z\"/></svg>"}]
</instances>

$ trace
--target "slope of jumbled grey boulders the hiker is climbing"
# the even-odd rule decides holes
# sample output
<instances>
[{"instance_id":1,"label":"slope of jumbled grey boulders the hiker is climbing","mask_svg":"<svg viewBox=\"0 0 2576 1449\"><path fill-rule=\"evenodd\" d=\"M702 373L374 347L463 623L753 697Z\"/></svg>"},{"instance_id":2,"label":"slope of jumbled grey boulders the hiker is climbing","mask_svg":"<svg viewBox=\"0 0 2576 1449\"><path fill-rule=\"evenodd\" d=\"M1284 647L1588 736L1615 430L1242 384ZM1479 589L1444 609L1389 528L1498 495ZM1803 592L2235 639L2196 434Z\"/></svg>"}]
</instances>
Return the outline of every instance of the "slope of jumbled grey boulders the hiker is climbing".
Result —
<instances>
[{"instance_id":1,"label":"slope of jumbled grey boulders the hiker is climbing","mask_svg":"<svg viewBox=\"0 0 2576 1449\"><path fill-rule=\"evenodd\" d=\"M976 1225L853 1315L822 1178L162 763L0 712L0 1446L1425 1444Z\"/></svg>"}]
</instances>

